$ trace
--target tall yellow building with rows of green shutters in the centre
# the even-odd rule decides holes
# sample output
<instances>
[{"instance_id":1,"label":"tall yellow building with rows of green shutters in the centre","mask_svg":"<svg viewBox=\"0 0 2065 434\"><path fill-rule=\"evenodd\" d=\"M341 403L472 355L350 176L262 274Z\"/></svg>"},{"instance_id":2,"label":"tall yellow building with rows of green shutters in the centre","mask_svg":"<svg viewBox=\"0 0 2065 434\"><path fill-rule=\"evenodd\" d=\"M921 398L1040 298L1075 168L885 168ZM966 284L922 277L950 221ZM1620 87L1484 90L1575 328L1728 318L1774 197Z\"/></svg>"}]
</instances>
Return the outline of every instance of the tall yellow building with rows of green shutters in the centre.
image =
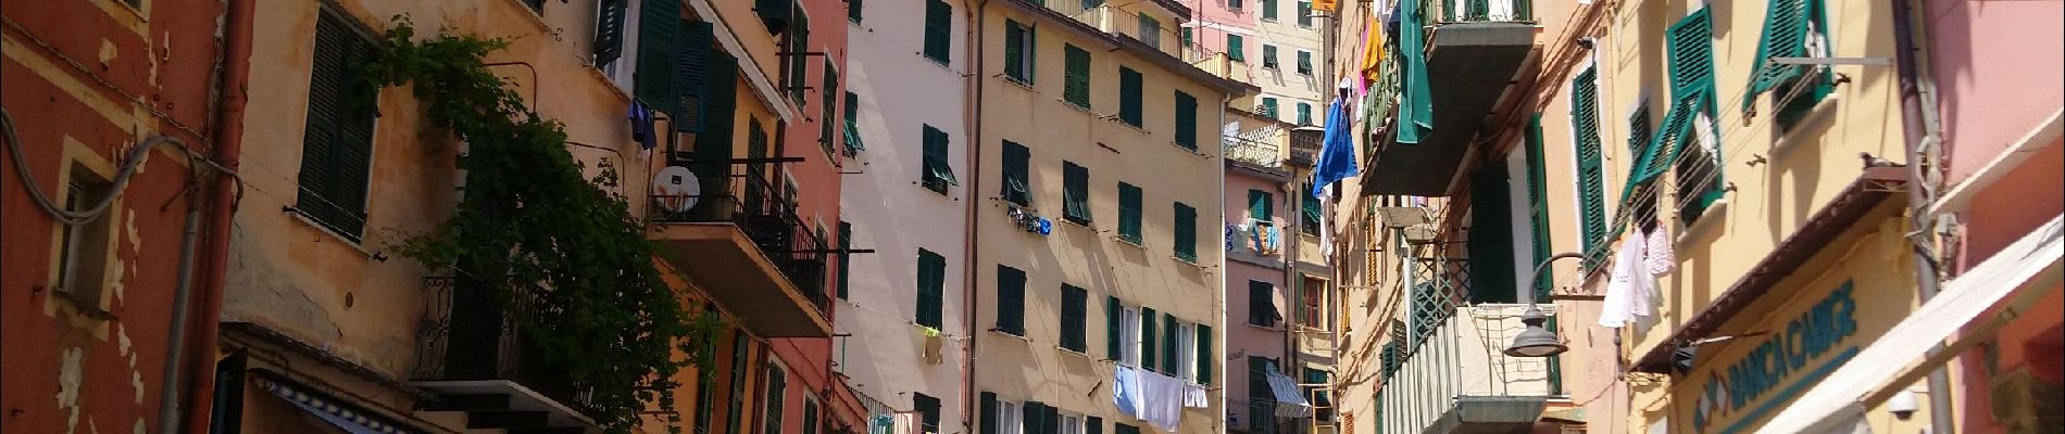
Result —
<instances>
[{"instance_id":1,"label":"tall yellow building with rows of green shutters in the centre","mask_svg":"<svg viewBox=\"0 0 2065 434\"><path fill-rule=\"evenodd\" d=\"M971 274L966 413L979 432L1220 432L1214 138L1253 88L1179 58L1175 2L971 8L977 62L946 68L979 66L979 125L952 138L975 160L966 185L933 183L973 226L971 257L942 259ZM1127 395L1125 413L1115 370L1173 389Z\"/></svg>"}]
</instances>

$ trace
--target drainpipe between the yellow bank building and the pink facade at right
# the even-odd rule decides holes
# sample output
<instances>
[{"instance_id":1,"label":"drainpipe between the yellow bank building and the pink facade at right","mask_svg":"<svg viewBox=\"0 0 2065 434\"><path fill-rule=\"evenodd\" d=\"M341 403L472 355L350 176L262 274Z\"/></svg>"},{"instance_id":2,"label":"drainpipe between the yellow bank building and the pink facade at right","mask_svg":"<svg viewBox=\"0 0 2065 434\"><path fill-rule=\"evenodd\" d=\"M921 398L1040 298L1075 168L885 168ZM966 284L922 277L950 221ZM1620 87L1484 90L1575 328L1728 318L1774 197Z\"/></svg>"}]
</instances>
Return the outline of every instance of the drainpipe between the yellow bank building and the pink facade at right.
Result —
<instances>
[{"instance_id":1,"label":"drainpipe between the yellow bank building and the pink facade at right","mask_svg":"<svg viewBox=\"0 0 2065 434\"><path fill-rule=\"evenodd\" d=\"M1937 156L1943 144L1943 123L1941 117L1937 117L1935 76L1929 70L1929 33L1925 25L1927 21L1923 21L1923 8L1916 0L1892 0L1892 6L1894 41L1898 45L1896 58L1900 64L1902 128L1908 138L1908 169L1912 171L1912 179L1908 179L1908 216L1912 218L1914 228L1908 234L1908 241L1914 251L1914 282L1920 298L1927 302L1929 298L1935 298L1937 290L1941 290L1941 274L1933 253L1933 234L1937 226L1929 208L1937 195L1937 167L1941 165L1941 158ZM1941 341L1929 350L1929 356L1935 358L1939 352L1943 352ZM1956 418L1951 415L1951 393L1949 370L1943 366L1931 370L1929 432L1958 432Z\"/></svg>"}]
</instances>

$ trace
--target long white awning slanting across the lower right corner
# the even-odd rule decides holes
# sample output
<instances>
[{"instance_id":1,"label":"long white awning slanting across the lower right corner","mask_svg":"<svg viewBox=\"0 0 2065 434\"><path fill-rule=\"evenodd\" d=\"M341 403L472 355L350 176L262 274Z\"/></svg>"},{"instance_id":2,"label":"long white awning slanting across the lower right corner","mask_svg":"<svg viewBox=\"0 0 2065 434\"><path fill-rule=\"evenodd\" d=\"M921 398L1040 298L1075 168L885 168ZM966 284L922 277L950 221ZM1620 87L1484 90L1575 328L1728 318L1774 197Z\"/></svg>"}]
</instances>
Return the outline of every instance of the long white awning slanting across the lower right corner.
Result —
<instances>
[{"instance_id":1,"label":"long white awning slanting across the lower right corner","mask_svg":"<svg viewBox=\"0 0 2065 434\"><path fill-rule=\"evenodd\" d=\"M1935 298L1910 313L1900 325L1885 331L1885 335L1879 335L1877 341L1854 358L1871 362L1842 364L1842 368L1836 368L1834 374L1792 401L1792 405L1774 415L1757 432L1836 432L1854 426L1869 407L1877 405L1873 395L1881 395L1879 391L1885 387L1906 389L1906 383L1947 362L1947 356L1956 356L1958 348L1968 348L1972 341L1984 339L2001 325L2007 325L2022 309L2028 309L2055 288L2059 257L2065 255L2061 230L2065 230L2065 216L2051 218L2048 224L2030 230L2030 234L2007 249L1943 284L1943 290ZM2003 300L2007 300L2007 306L2001 315L1974 325L1974 319L1993 313ZM1943 356L1923 360L1929 348L1935 348L1935 343L1953 333L1966 333L1960 339L1964 346L1949 346ZM1912 360L1923 362L1910 366Z\"/></svg>"}]
</instances>

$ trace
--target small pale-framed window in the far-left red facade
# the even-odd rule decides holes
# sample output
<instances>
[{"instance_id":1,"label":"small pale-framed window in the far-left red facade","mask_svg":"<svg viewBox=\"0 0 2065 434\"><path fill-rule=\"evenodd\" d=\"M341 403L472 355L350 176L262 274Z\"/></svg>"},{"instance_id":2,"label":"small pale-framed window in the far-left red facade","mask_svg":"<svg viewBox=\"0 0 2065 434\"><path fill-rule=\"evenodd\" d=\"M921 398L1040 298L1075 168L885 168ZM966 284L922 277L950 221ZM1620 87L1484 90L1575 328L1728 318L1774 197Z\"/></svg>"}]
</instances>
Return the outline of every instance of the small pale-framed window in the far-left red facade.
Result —
<instances>
[{"instance_id":1,"label":"small pale-framed window in the far-left red facade","mask_svg":"<svg viewBox=\"0 0 2065 434\"><path fill-rule=\"evenodd\" d=\"M107 177L93 173L85 165L72 165L70 179L64 183L64 210L85 212L91 210L103 197L114 195L109 191ZM107 282L107 253L114 251L114 226L120 210L107 206L87 224L58 224L62 228L62 245L58 247L58 294L64 294L74 309L105 313L105 282Z\"/></svg>"}]
</instances>

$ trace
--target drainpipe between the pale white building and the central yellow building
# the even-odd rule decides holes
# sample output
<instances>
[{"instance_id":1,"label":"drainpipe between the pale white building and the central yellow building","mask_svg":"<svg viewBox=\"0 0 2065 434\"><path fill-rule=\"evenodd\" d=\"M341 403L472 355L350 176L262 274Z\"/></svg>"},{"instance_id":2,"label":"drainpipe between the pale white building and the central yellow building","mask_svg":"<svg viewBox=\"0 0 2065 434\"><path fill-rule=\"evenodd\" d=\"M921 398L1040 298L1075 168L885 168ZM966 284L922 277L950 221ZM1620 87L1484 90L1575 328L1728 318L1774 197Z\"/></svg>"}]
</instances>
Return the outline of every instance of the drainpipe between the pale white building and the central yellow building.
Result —
<instances>
[{"instance_id":1,"label":"drainpipe between the pale white building and the central yellow building","mask_svg":"<svg viewBox=\"0 0 2065 434\"><path fill-rule=\"evenodd\" d=\"M962 91L962 97L966 97L966 101L962 103L964 107L960 109L960 113L962 113L960 115L962 128L968 132L968 187L964 189L966 191L964 195L968 200L962 202L962 206L966 208L966 222L962 224L962 230L966 232L966 237L962 237L962 239L966 239L966 243L962 243L962 249L966 253L962 257L966 257L966 261L962 261L962 267L960 267L962 276L966 276L966 278L962 278L962 294L966 294L964 296L966 302L962 302L960 317L962 317L962 325L964 325L962 329L964 329L964 333L968 337L968 352L962 354L962 364L960 364L960 368L962 368L960 370L962 372L960 374L960 385L962 385L960 387L960 426L962 426L962 430L973 430L973 426L975 426L975 411L977 411L977 407L975 407L977 405L975 403L977 401L975 399L975 393L977 393L975 391L975 350L977 350L975 335L979 333L977 329L981 329L981 327L975 325L975 321L977 321L977 313L981 311L981 304L983 304L983 292L975 290L975 288L979 288L975 284L975 269L977 269L977 261L979 261L975 245L977 245L977 239L983 237L983 230L979 230L977 224L975 224L975 214L981 210L979 206L975 206L975 197L979 195L979 191L983 191L981 189L981 185L983 185L983 123L981 123L983 121L983 41L981 41L983 31L981 29L983 29L983 10L985 8L989 8L987 0L973 0L973 8L962 8L968 14L968 25L962 31L964 33L962 39L966 41L966 53L968 53L968 72L962 74L962 78L964 78L962 86L966 86Z\"/></svg>"}]
</instances>

